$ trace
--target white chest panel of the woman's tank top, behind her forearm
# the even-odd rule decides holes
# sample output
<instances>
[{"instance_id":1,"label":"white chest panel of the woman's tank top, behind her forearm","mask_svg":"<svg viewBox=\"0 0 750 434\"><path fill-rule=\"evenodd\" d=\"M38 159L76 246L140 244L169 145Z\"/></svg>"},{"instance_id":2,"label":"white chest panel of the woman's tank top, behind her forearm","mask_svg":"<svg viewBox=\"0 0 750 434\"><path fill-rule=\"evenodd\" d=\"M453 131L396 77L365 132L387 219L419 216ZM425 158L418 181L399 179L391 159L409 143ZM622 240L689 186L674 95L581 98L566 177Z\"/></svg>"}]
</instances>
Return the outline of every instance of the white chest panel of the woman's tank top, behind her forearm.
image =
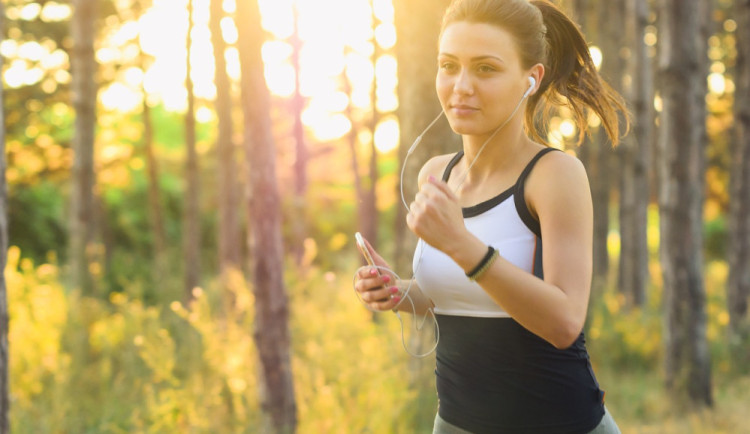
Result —
<instances>
[{"instance_id":1,"label":"white chest panel of the woman's tank top, behind her forearm","mask_svg":"<svg viewBox=\"0 0 750 434\"><path fill-rule=\"evenodd\" d=\"M487 245L494 247L505 260L522 270L543 278L542 242L539 222L526 207L523 186L526 177L546 148L528 163L515 185L492 199L463 208L466 228ZM443 174L450 172L463 156L459 152L448 163ZM421 256L421 259L420 259ZM420 263L421 262L421 263ZM509 317L479 286L466 277L464 270L445 253L419 240L414 252L413 270L422 292L435 304L435 313L483 318Z\"/></svg>"}]
</instances>

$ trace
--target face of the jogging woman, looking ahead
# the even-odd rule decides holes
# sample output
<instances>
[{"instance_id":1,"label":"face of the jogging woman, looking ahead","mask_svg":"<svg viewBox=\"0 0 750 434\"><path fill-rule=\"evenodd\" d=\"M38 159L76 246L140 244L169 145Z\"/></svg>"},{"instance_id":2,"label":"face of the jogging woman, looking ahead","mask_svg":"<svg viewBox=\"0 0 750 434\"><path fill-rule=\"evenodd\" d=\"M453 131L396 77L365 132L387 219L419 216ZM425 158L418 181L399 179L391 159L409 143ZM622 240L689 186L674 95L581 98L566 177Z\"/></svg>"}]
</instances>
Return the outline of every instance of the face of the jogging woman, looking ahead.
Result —
<instances>
[{"instance_id":1,"label":"face of the jogging woman, looking ahead","mask_svg":"<svg viewBox=\"0 0 750 434\"><path fill-rule=\"evenodd\" d=\"M435 84L456 133L492 133L521 101L529 75L511 34L501 27L459 21L443 31Z\"/></svg>"}]
</instances>

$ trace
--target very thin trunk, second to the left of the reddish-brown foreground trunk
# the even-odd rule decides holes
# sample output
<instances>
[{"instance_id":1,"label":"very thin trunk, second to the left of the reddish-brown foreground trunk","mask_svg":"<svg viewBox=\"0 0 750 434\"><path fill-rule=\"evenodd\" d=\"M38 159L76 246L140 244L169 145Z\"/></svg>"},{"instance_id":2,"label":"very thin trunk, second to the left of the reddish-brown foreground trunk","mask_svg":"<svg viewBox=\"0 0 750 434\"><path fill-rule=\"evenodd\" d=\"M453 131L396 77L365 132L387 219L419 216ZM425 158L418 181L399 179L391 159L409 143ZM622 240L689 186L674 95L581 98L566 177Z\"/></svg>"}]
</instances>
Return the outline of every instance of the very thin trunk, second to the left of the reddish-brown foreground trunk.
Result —
<instances>
[{"instance_id":1,"label":"very thin trunk, second to the left of the reddish-brown foreground trunk","mask_svg":"<svg viewBox=\"0 0 750 434\"><path fill-rule=\"evenodd\" d=\"M185 300L193 298L193 288L200 284L200 181L198 179L198 153L195 149L195 96L193 94L193 79L190 77L190 33L193 30L193 0L188 0L188 31L187 31L187 70L185 73L185 89L187 90L187 111L185 113L185 149L187 162L185 168L185 207L183 211L184 228L182 232L183 255L185 264Z\"/></svg>"}]
</instances>

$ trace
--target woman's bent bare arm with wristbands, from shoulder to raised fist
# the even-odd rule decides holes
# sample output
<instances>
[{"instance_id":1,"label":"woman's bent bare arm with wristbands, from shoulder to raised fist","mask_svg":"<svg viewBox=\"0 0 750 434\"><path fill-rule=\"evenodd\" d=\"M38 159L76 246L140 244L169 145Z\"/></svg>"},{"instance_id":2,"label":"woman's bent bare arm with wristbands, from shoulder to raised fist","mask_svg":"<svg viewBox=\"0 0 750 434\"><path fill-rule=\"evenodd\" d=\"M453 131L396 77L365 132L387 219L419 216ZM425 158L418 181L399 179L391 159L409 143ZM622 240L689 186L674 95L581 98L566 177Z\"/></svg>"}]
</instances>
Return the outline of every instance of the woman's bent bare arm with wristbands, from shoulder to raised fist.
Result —
<instances>
[{"instance_id":1,"label":"woman's bent bare arm with wristbands, from shoulder to raised fist","mask_svg":"<svg viewBox=\"0 0 750 434\"><path fill-rule=\"evenodd\" d=\"M553 152L539 160L525 190L544 239L544 280L500 257L477 283L526 329L567 348L583 329L591 288L593 206L586 171L578 159ZM457 224L455 195L435 179L423 191L419 199L424 204L407 223L465 271L473 269L487 245L468 232L462 220ZM444 213L447 218L429 215L441 209L453 211Z\"/></svg>"}]
</instances>

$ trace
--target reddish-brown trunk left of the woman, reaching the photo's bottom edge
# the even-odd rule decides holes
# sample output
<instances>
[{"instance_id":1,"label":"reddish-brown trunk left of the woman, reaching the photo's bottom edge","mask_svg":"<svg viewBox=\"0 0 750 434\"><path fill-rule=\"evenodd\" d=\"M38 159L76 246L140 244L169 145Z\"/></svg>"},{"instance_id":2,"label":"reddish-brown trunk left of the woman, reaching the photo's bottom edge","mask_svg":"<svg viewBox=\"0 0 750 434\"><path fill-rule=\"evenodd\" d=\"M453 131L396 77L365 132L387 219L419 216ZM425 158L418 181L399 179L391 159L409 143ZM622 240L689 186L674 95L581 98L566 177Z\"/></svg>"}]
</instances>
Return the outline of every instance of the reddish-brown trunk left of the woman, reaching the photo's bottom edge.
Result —
<instances>
[{"instance_id":1,"label":"reddish-brown trunk left of the woman, reaching the photo's bottom edge","mask_svg":"<svg viewBox=\"0 0 750 434\"><path fill-rule=\"evenodd\" d=\"M297 405L291 370L288 299L283 281L281 204L257 1L237 2L236 22L249 171L248 216L255 247L252 254L256 306L254 339L263 371L262 409L274 432L291 433L297 427Z\"/></svg>"}]
</instances>

